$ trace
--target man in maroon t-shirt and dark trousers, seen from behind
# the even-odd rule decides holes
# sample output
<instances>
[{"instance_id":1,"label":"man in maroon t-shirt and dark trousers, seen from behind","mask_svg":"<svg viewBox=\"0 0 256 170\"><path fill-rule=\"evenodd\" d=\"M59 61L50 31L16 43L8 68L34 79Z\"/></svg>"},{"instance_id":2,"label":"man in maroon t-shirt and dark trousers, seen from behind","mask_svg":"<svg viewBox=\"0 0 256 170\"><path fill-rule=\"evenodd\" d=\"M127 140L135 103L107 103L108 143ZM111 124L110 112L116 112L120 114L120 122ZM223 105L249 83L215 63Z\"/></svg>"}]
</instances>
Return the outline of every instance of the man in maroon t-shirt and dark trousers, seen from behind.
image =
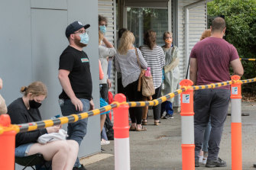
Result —
<instances>
[{"instance_id":1,"label":"man in maroon t-shirt and dark trousers, seen from behind","mask_svg":"<svg viewBox=\"0 0 256 170\"><path fill-rule=\"evenodd\" d=\"M199 41L190 54L190 79L194 85L208 85L230 80L229 65L235 75L243 75L238 52L232 44L222 37L225 34L225 20L212 21L211 37ZM195 166L199 166L199 151L203 143L203 132L211 117L212 130L209 137L206 167L225 167L226 162L219 159L219 143L222 138L223 124L228 112L230 87L203 89L194 95L195 129Z\"/></svg>"}]
</instances>

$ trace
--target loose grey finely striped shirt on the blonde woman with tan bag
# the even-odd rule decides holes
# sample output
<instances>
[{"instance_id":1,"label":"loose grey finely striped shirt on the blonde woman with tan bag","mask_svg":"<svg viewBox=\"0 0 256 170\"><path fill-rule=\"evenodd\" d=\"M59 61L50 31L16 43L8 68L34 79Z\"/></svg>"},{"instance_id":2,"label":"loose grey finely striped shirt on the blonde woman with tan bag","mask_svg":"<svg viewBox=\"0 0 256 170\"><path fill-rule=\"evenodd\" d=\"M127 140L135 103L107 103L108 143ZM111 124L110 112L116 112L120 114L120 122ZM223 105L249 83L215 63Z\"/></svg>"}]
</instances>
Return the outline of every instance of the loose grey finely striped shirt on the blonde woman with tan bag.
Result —
<instances>
[{"instance_id":1,"label":"loose grey finely striped shirt on the blonde woman with tan bag","mask_svg":"<svg viewBox=\"0 0 256 170\"><path fill-rule=\"evenodd\" d=\"M142 69L147 69L147 63L143 58L140 50L138 50L138 58L141 63ZM138 65L135 50L128 50L128 53L125 55L116 53L115 69L117 72L122 73L122 85L124 87L131 84L131 82L137 81L138 76L141 74L141 68Z\"/></svg>"}]
</instances>

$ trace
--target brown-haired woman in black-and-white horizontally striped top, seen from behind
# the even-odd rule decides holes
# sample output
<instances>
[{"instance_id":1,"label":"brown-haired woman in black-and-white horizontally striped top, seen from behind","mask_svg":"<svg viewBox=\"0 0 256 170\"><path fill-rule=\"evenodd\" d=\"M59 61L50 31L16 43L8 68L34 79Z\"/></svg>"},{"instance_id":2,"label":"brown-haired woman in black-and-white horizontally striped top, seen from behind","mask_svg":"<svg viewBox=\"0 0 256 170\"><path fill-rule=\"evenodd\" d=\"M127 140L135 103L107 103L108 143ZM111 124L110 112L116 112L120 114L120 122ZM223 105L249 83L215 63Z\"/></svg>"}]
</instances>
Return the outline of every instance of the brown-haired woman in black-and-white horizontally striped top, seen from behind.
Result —
<instances>
[{"instance_id":1,"label":"brown-haired woman in black-and-white horizontally striped top, seen from behind","mask_svg":"<svg viewBox=\"0 0 256 170\"><path fill-rule=\"evenodd\" d=\"M153 30L147 30L144 34L144 46L141 47L141 53L147 62L147 66L151 67L151 74L153 76L155 94L153 99L159 98L161 95L162 84L162 69L164 67L164 51L160 46L157 46L157 34ZM147 124L147 110L144 107L143 111L143 124ZM153 107L154 125L160 124L160 104Z\"/></svg>"}]
</instances>

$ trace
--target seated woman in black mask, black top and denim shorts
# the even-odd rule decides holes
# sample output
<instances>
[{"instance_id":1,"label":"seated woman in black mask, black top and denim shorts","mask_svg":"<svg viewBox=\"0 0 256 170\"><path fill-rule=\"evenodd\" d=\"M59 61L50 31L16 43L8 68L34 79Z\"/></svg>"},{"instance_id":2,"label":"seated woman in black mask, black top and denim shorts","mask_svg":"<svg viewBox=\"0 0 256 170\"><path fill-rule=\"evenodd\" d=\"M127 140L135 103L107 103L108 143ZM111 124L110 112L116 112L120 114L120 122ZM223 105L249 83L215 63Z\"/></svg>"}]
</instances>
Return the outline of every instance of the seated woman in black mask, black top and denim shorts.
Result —
<instances>
[{"instance_id":1,"label":"seated woman in black mask, black top and denim shorts","mask_svg":"<svg viewBox=\"0 0 256 170\"><path fill-rule=\"evenodd\" d=\"M22 98L8 105L11 123L29 123L41 120L38 107L47 97L47 88L42 82L32 82L28 87L22 87ZM52 169L73 169L79 149L74 140L57 140L46 144L37 143L39 136L45 133L56 133L61 126L47 127L16 135L15 156L30 156L40 152L46 161L52 161Z\"/></svg>"}]
</instances>

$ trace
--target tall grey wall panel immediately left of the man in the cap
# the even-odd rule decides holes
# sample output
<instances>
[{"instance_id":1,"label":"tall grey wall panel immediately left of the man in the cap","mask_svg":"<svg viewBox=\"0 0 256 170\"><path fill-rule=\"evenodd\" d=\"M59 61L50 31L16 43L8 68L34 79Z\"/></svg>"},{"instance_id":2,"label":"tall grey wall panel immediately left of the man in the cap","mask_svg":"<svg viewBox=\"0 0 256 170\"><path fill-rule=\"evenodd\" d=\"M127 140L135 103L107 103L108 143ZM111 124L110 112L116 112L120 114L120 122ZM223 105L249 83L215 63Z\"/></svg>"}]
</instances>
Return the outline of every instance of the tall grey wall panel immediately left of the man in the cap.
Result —
<instances>
[{"instance_id":1,"label":"tall grey wall panel immediately left of the man in the cap","mask_svg":"<svg viewBox=\"0 0 256 170\"><path fill-rule=\"evenodd\" d=\"M41 107L43 119L61 114L58 68L60 54L68 45L64 35L66 18L67 11L31 9L32 79L44 82L48 89L48 97Z\"/></svg>"}]
</instances>

